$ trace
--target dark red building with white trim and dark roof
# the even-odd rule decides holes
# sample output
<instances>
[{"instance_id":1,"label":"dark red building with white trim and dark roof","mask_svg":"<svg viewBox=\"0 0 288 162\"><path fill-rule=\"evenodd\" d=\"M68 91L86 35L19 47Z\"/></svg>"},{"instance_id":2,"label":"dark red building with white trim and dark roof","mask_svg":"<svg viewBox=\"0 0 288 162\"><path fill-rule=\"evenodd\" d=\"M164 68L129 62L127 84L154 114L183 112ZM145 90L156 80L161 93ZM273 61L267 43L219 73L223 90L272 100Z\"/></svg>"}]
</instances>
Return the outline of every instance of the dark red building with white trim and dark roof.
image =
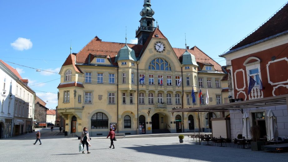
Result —
<instances>
[{"instance_id":1,"label":"dark red building with white trim and dark roof","mask_svg":"<svg viewBox=\"0 0 288 162\"><path fill-rule=\"evenodd\" d=\"M221 55L229 71L229 95L240 101L288 94L288 5L267 22ZM252 78L252 79L251 79ZM252 84L255 82L254 84ZM249 91L249 87L251 91ZM261 127L261 137L268 134L269 110L275 115L278 135L288 135L287 105L230 110L231 138L242 133L243 112L249 114L250 125ZM277 140L277 139L276 139Z\"/></svg>"}]
</instances>

